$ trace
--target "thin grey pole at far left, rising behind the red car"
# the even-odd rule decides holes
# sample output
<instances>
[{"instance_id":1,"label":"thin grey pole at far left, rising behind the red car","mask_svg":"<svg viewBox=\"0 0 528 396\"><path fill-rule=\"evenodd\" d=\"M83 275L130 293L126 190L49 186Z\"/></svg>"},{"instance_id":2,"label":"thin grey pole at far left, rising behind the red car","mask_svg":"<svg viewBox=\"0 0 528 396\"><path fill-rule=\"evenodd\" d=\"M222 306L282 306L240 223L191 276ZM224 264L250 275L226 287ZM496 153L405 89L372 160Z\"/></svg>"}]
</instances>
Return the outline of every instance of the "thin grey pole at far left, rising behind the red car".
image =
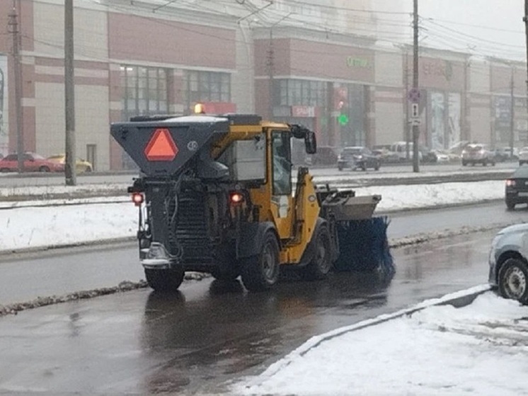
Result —
<instances>
[{"instance_id":1,"label":"thin grey pole at far left, rising behind the red car","mask_svg":"<svg viewBox=\"0 0 528 396\"><path fill-rule=\"evenodd\" d=\"M9 33L13 35L13 72L15 74L15 110L16 110L16 152L18 172L24 171L24 134L22 126L22 69L20 59L20 31L18 30L18 13L13 0L13 10L9 13Z\"/></svg>"}]
</instances>

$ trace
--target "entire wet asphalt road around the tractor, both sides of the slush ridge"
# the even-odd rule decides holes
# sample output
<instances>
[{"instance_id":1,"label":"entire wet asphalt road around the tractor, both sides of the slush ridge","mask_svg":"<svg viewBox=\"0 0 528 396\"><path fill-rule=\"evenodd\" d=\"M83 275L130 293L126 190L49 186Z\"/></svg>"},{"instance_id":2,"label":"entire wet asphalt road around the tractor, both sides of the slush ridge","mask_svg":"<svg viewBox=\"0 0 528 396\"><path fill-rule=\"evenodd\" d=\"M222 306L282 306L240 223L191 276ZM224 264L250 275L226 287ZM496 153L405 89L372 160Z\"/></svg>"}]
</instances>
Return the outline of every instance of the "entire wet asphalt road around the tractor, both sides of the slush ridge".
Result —
<instances>
[{"instance_id":1,"label":"entire wet asphalt road around the tractor, both sides of the slush ridge","mask_svg":"<svg viewBox=\"0 0 528 396\"><path fill-rule=\"evenodd\" d=\"M391 216L389 234L527 217L528 210L506 212L503 203L410 212ZM494 233L393 249L397 272L389 284L339 273L248 294L238 282L205 279L186 282L169 297L142 289L3 317L0 395L227 392L226 380L260 372L311 336L486 283ZM26 300L136 281L138 267L135 244L1 261L0 303L17 293L16 300Z\"/></svg>"}]
</instances>

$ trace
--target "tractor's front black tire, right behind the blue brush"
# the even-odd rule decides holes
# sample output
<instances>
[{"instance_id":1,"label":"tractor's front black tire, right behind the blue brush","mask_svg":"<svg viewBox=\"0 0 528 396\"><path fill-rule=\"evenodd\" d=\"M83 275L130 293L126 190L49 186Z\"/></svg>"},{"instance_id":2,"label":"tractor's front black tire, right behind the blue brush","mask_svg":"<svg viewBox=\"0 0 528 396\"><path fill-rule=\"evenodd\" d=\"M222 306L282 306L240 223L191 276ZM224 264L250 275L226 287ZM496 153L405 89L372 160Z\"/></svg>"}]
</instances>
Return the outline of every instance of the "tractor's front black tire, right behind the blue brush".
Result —
<instances>
[{"instance_id":1,"label":"tractor's front black tire, right behind the blue brush","mask_svg":"<svg viewBox=\"0 0 528 396\"><path fill-rule=\"evenodd\" d=\"M317 281L326 278L332 269L332 246L328 227L318 227L310 243L314 244L314 256L303 268L303 277L309 281Z\"/></svg>"}]
</instances>

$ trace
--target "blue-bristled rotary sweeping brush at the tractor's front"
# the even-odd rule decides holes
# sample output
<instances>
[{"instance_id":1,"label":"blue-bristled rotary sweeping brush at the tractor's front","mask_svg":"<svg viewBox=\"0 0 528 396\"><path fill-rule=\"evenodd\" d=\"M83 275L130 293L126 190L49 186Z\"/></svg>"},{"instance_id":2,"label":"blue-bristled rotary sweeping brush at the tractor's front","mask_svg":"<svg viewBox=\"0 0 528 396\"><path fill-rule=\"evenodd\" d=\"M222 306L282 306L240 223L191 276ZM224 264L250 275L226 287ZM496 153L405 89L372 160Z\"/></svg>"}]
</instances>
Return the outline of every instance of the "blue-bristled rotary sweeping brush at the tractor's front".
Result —
<instances>
[{"instance_id":1,"label":"blue-bristled rotary sweeping brush at the tractor's front","mask_svg":"<svg viewBox=\"0 0 528 396\"><path fill-rule=\"evenodd\" d=\"M339 256L336 271L369 271L394 275L394 261L387 239L387 217L340 220L336 224Z\"/></svg>"}]
</instances>

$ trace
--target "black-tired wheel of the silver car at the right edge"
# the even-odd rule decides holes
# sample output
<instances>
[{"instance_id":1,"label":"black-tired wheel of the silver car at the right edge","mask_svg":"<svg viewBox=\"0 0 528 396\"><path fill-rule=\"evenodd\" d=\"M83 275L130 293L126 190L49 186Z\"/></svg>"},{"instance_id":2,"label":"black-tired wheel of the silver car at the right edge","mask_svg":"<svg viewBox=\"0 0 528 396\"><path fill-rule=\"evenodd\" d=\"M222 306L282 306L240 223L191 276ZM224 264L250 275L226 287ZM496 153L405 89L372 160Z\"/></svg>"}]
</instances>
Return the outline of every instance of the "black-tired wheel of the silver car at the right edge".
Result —
<instances>
[{"instance_id":1,"label":"black-tired wheel of the silver car at the right edge","mask_svg":"<svg viewBox=\"0 0 528 396\"><path fill-rule=\"evenodd\" d=\"M507 259L500 267L498 291L501 297L528 304L528 266L520 259Z\"/></svg>"}]
</instances>

